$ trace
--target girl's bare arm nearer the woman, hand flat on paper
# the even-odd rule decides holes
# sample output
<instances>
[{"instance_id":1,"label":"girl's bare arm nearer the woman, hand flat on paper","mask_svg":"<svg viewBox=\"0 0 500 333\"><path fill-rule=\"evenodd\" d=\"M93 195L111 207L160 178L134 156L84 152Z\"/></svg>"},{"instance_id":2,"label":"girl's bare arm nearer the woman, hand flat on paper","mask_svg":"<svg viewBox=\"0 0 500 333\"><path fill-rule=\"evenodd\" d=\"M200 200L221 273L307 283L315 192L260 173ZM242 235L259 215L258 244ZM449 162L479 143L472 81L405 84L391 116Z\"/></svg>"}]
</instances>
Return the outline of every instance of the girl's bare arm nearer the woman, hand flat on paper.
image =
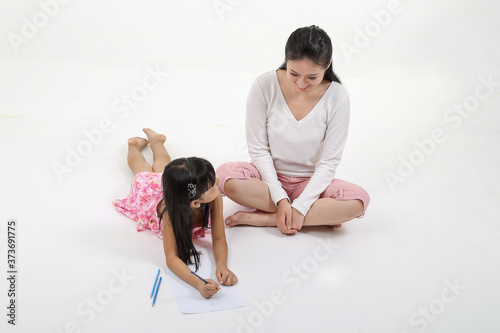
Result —
<instances>
[{"instance_id":1,"label":"girl's bare arm nearer the woman, hand flat on paper","mask_svg":"<svg viewBox=\"0 0 500 333\"><path fill-rule=\"evenodd\" d=\"M211 203L211 206L212 246L215 264L217 265L215 275L219 283L232 286L238 281L238 278L227 268L227 242L222 216L222 195L220 193Z\"/></svg>"}]
</instances>

